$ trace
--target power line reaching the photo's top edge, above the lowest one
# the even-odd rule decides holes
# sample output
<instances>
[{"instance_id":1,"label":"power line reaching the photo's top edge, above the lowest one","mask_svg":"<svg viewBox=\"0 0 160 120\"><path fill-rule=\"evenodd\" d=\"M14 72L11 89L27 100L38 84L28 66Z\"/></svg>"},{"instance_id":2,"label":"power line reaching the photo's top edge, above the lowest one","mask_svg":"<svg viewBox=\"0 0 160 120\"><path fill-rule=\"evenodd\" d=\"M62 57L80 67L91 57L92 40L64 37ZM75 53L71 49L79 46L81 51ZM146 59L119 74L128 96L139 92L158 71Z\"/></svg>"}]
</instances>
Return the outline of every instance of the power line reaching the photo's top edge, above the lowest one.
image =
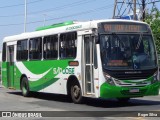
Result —
<instances>
[{"instance_id":1,"label":"power line reaching the photo's top edge, above the lowest one","mask_svg":"<svg viewBox=\"0 0 160 120\"><path fill-rule=\"evenodd\" d=\"M59 6L59 7L54 7L54 8L50 8L50 9L30 12L30 13L28 13L28 15L33 15L33 14L38 14L38 13L42 13L42 12L50 12L50 11L55 11L55 10L59 10L59 9L64 9L64 8L67 8L67 7L71 7L73 5L78 6L78 5L81 5L81 4L90 3L91 1L93 1L93 0L80 0L80 1L77 1L77 2L70 3L70 4L62 5L62 6ZM0 17L17 17L17 16L24 16L24 14L5 15L5 16L0 16Z\"/></svg>"}]
</instances>

